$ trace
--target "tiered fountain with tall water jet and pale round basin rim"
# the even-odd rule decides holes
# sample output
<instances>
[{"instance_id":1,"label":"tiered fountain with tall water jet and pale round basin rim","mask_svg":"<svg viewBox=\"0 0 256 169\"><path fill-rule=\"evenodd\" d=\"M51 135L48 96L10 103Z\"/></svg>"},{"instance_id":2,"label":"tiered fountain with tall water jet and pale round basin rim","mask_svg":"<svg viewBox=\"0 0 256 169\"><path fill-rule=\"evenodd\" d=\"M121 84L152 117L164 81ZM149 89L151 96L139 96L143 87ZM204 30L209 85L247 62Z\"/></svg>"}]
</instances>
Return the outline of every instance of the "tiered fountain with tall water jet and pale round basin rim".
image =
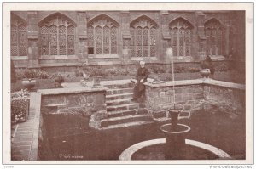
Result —
<instances>
[{"instance_id":1,"label":"tiered fountain with tall water jet and pale round basin rim","mask_svg":"<svg viewBox=\"0 0 256 169\"><path fill-rule=\"evenodd\" d=\"M178 123L178 119L183 110L177 109L175 105L175 79L172 48L168 48L166 50L166 56L168 57L168 59L171 59L172 65L173 108L166 111L166 117L167 119L170 119L171 117L171 123L160 126L161 132L165 133L165 138L153 139L134 144L122 152L122 154L119 156L119 160L137 159L135 157L137 156L136 154L143 155L143 152L148 151L150 152L149 156L153 155L153 157L149 157L150 159L156 157L156 159L158 160L189 160L195 158L197 154L200 154L198 152L203 152L202 154L204 155L207 154L210 159L229 159L230 155L228 155L221 149L215 148L209 144L186 139L188 138L187 136L190 131L190 127ZM155 151L155 149L162 149L160 150L162 152L159 152L159 150ZM161 156L162 153L164 153L164 156Z\"/></svg>"}]
</instances>

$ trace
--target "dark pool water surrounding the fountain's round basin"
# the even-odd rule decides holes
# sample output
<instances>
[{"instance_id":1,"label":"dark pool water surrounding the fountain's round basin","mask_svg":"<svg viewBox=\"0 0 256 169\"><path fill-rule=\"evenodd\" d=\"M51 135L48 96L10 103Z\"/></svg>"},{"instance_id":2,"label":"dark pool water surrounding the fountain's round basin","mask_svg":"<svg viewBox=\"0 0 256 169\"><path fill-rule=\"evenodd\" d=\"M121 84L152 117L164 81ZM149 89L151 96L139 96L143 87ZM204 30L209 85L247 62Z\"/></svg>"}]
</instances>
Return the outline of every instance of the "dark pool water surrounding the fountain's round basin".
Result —
<instances>
[{"instance_id":1,"label":"dark pool water surrounding the fountain's round basin","mask_svg":"<svg viewBox=\"0 0 256 169\"><path fill-rule=\"evenodd\" d=\"M88 127L89 118L79 115L44 115L44 127L52 154L41 153L42 160L118 160L133 144L165 138L160 124L96 131ZM194 113L180 123L191 127L188 139L223 149L236 159L245 158L245 114L236 117L225 112ZM44 151L44 149L39 149ZM204 152L202 152L204 154ZM205 159L198 155L199 159ZM211 159L208 156L207 159ZM194 157L193 157L194 159Z\"/></svg>"}]
</instances>

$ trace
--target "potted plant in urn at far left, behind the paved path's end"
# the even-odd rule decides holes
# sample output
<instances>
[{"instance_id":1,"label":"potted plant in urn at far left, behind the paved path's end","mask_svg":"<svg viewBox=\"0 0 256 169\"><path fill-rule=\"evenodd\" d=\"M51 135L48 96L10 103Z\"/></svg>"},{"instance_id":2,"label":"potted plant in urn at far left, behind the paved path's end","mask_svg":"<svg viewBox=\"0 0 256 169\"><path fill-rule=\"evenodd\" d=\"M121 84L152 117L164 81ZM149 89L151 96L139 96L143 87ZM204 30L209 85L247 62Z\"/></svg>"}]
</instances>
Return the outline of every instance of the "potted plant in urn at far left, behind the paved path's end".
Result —
<instances>
[{"instance_id":1,"label":"potted plant in urn at far left, behind the paved path's end","mask_svg":"<svg viewBox=\"0 0 256 169\"><path fill-rule=\"evenodd\" d=\"M37 72L35 70L29 70L26 68L24 71L24 78L22 79L22 85L25 87L28 91L31 91L33 87L36 85L36 79Z\"/></svg>"}]
</instances>

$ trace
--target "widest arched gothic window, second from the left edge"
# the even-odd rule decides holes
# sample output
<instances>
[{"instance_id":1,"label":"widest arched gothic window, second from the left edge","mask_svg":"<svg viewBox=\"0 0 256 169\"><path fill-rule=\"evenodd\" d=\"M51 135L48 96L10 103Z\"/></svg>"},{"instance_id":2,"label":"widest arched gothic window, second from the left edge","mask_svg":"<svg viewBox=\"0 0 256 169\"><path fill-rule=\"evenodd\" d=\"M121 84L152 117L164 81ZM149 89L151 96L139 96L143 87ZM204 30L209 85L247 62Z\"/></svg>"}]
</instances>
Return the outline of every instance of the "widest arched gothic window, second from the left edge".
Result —
<instances>
[{"instance_id":1,"label":"widest arched gothic window, second from the left edge","mask_svg":"<svg viewBox=\"0 0 256 169\"><path fill-rule=\"evenodd\" d=\"M74 55L75 27L65 17L55 15L40 26L41 55Z\"/></svg>"}]
</instances>

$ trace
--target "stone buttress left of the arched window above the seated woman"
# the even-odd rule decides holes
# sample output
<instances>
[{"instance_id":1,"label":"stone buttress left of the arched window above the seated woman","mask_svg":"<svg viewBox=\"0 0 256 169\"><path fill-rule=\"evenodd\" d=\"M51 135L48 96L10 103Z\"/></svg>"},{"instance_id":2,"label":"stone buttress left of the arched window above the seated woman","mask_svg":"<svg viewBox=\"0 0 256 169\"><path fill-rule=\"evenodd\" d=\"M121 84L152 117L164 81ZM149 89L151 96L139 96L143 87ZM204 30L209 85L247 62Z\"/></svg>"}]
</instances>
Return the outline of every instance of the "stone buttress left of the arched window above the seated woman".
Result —
<instances>
[{"instance_id":1,"label":"stone buttress left of the arched window above the seated woman","mask_svg":"<svg viewBox=\"0 0 256 169\"><path fill-rule=\"evenodd\" d=\"M122 63L130 63L131 62L131 52L130 52L130 12L129 11L121 11L121 38L123 41L122 47Z\"/></svg>"}]
</instances>

